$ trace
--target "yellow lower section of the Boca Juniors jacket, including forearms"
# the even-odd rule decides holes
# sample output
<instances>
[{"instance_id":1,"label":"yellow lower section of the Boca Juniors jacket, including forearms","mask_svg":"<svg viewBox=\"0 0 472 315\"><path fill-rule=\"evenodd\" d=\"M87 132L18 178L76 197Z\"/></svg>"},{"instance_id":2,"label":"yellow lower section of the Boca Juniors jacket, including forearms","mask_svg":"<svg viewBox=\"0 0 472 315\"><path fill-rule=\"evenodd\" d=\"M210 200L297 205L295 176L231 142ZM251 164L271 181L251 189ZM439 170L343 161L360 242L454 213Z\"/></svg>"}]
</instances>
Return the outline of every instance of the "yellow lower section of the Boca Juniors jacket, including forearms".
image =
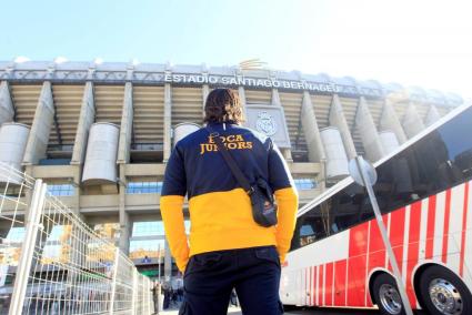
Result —
<instances>
[{"instance_id":1,"label":"yellow lower section of the Boca Juniors jacket, including forearms","mask_svg":"<svg viewBox=\"0 0 472 315\"><path fill-rule=\"evenodd\" d=\"M190 256L222 250L275 245L283 262L295 225L298 195L292 187L275 192L277 226L263 227L252 219L249 196L242 189L212 192L192 197L190 211L190 250L184 234L183 197L161 197L165 234L180 271Z\"/></svg>"}]
</instances>

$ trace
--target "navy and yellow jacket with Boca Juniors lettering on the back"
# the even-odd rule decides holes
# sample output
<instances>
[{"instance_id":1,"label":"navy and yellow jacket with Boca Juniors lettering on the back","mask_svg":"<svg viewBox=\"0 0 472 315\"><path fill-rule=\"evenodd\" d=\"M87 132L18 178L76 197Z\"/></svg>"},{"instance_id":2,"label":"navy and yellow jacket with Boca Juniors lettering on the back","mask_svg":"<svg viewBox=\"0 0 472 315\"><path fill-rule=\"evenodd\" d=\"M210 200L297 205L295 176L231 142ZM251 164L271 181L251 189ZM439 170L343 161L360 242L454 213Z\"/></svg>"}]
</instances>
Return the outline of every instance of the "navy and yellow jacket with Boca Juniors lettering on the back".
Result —
<instances>
[{"instance_id":1,"label":"navy and yellow jacket with Boca Juniors lettering on the back","mask_svg":"<svg viewBox=\"0 0 472 315\"><path fill-rule=\"evenodd\" d=\"M249 182L268 180L279 207L277 226L252 219L250 199L233 177L208 129L179 141L169 159L160 200L170 250L180 271L199 253L275 245L281 261L290 247L298 195L288 166L270 138L231 123L212 123ZM182 205L189 200L190 240Z\"/></svg>"}]
</instances>

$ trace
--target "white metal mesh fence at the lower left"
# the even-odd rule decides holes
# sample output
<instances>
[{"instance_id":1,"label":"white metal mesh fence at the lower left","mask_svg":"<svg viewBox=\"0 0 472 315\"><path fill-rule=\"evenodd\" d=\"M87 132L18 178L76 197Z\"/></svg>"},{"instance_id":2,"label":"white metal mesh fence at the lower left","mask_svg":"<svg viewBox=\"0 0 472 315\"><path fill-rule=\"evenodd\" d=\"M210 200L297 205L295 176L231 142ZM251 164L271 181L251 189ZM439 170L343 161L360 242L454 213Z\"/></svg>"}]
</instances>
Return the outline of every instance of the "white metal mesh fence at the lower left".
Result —
<instances>
[{"instance_id":1,"label":"white metal mesh fence at the lower left","mask_svg":"<svg viewBox=\"0 0 472 315\"><path fill-rule=\"evenodd\" d=\"M114 244L41 180L0 163L0 314L141 315L151 298L150 280Z\"/></svg>"}]
</instances>

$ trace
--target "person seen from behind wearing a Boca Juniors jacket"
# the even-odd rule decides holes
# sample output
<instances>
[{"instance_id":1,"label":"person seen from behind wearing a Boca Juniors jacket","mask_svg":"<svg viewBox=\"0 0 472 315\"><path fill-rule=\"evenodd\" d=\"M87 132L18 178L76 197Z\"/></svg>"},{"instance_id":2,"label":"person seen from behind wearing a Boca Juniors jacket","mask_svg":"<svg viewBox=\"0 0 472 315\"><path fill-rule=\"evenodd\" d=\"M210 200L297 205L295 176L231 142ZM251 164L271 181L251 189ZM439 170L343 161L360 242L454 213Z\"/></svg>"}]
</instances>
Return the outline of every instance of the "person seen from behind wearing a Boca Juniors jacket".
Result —
<instances>
[{"instance_id":1,"label":"person seen from behind wearing a Boca Juniors jacket","mask_svg":"<svg viewBox=\"0 0 472 315\"><path fill-rule=\"evenodd\" d=\"M234 91L210 92L204 114L207 126L175 144L160 201L170 250L183 273L180 314L227 314L233 288L243 314L281 314L281 263L298 207L293 180L272 140L241 126L243 108Z\"/></svg>"}]
</instances>

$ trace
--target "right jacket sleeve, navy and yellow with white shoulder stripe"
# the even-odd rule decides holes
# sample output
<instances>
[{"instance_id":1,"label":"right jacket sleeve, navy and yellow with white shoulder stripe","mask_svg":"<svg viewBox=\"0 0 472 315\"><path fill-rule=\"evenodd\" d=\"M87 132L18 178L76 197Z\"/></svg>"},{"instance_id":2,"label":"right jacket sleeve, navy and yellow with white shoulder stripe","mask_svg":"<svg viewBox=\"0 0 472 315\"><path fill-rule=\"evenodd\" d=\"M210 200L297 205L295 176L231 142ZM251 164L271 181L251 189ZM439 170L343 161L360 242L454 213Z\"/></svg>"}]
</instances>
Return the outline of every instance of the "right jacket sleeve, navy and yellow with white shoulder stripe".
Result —
<instances>
[{"instance_id":1,"label":"right jacket sleeve, navy and yellow with white shoulder stripe","mask_svg":"<svg viewBox=\"0 0 472 315\"><path fill-rule=\"evenodd\" d=\"M289 167L275 144L269 150L269 182L278 204L278 225L275 227L277 250L280 262L285 261L290 250L297 222L299 196Z\"/></svg>"}]
</instances>

